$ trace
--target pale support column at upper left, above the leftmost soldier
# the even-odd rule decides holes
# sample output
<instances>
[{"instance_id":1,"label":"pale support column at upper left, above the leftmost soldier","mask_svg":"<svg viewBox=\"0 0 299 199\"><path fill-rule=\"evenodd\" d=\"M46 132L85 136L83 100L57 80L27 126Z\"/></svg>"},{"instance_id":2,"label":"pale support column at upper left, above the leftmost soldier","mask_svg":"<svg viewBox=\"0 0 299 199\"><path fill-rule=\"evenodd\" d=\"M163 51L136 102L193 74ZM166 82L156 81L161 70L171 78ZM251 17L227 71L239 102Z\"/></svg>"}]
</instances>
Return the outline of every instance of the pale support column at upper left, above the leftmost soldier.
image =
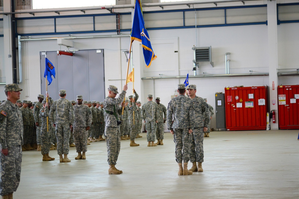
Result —
<instances>
[{"instance_id":1,"label":"pale support column at upper left, above the leftmost soldier","mask_svg":"<svg viewBox=\"0 0 299 199\"><path fill-rule=\"evenodd\" d=\"M11 12L10 0L3 1L4 12ZM3 15L3 34L4 34L4 65L5 65L5 82L13 83L13 59L11 46L11 15Z\"/></svg>"}]
</instances>

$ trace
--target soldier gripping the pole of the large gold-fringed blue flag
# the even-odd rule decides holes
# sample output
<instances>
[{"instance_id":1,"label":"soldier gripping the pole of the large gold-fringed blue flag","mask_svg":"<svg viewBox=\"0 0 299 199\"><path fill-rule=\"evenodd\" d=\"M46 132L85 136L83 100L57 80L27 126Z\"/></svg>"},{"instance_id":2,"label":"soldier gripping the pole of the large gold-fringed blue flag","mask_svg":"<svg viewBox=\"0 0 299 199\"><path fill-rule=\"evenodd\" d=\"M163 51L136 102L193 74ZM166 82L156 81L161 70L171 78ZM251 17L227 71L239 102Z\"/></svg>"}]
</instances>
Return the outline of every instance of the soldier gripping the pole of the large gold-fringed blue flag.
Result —
<instances>
[{"instance_id":1,"label":"soldier gripping the pole of the large gold-fringed blue flag","mask_svg":"<svg viewBox=\"0 0 299 199\"><path fill-rule=\"evenodd\" d=\"M120 131L119 131L119 116L122 109L119 108L118 104L123 101L126 95L126 90L128 85L123 86L123 91L118 98L115 98L118 94L117 87L110 85L108 88L108 97L103 102L104 105L104 117L106 118L105 126L105 138L107 143L108 152L108 164L109 164L109 174L120 174L121 170L115 168L116 161L118 159L118 154L120 151ZM122 105L124 106L124 105Z\"/></svg>"}]
</instances>

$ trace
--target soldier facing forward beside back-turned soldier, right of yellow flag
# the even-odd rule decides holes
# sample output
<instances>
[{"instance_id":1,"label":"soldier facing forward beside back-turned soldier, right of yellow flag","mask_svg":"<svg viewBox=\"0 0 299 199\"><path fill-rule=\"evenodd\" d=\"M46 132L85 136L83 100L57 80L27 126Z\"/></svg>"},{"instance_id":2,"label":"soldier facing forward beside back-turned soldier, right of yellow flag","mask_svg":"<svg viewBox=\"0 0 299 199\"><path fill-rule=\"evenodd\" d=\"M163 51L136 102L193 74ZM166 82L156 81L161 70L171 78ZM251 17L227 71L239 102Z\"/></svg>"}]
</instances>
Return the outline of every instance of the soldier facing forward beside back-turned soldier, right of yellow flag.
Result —
<instances>
[{"instance_id":1,"label":"soldier facing forward beside back-turned soldier, right of yellow flag","mask_svg":"<svg viewBox=\"0 0 299 199\"><path fill-rule=\"evenodd\" d=\"M158 104L158 123L157 123L157 131L156 131L156 137L158 142L156 143L156 145L163 145L164 123L166 122L167 109L163 104L160 103L160 97L156 97L155 101Z\"/></svg>"}]
</instances>

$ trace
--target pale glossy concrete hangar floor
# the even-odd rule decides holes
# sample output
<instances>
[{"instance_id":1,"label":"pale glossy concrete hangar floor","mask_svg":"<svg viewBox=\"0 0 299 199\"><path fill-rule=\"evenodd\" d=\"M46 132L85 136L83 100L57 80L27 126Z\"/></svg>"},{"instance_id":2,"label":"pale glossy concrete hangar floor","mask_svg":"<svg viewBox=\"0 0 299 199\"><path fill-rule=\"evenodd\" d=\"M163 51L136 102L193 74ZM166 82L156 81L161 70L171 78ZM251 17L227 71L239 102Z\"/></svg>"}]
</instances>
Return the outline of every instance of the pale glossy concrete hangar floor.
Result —
<instances>
[{"instance_id":1,"label":"pale glossy concrete hangar floor","mask_svg":"<svg viewBox=\"0 0 299 199\"><path fill-rule=\"evenodd\" d=\"M164 145L138 147L121 141L117 168L109 175L105 142L91 143L86 160L43 162L24 151L21 182L14 198L299 198L298 130L214 131L204 139L204 172L178 176L173 137ZM189 168L191 164L189 163Z\"/></svg>"}]
</instances>

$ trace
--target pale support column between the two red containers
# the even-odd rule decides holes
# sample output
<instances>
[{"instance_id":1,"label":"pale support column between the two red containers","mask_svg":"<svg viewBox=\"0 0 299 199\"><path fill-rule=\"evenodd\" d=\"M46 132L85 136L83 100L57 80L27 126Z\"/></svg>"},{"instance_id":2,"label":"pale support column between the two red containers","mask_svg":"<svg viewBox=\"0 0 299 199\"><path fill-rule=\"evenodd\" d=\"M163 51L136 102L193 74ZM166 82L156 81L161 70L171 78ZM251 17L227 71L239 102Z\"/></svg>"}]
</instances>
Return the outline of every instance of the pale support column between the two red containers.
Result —
<instances>
[{"instance_id":1,"label":"pale support column between the two red containers","mask_svg":"<svg viewBox=\"0 0 299 199\"><path fill-rule=\"evenodd\" d=\"M269 52L269 85L270 85L270 111L275 109L276 115L278 115L278 101L277 101L277 7L276 0L267 0L267 18L268 18L268 52ZM274 84L274 86L273 86ZM274 88L274 89L273 89ZM275 100L275 104L272 104L272 100ZM270 118L271 120L271 118ZM278 129L278 117L276 117L276 123L273 124L271 120L271 129Z\"/></svg>"}]
</instances>

